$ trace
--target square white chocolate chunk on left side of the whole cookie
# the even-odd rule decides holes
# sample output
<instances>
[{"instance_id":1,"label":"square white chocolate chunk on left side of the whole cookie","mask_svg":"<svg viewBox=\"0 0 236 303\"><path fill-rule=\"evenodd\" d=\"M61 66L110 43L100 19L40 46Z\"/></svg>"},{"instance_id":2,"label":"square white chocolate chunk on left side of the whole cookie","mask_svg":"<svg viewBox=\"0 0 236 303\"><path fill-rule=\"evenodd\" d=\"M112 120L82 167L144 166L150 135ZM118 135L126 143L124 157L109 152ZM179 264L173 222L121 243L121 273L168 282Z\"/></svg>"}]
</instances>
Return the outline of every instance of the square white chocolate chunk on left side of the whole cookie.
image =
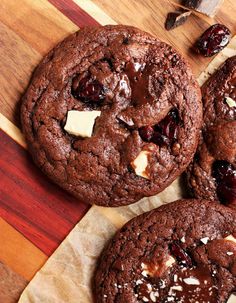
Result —
<instances>
[{"instance_id":1,"label":"square white chocolate chunk on left side of the whole cookie","mask_svg":"<svg viewBox=\"0 0 236 303\"><path fill-rule=\"evenodd\" d=\"M95 119L101 115L101 111L69 110L67 113L64 130L71 135L91 137Z\"/></svg>"}]
</instances>

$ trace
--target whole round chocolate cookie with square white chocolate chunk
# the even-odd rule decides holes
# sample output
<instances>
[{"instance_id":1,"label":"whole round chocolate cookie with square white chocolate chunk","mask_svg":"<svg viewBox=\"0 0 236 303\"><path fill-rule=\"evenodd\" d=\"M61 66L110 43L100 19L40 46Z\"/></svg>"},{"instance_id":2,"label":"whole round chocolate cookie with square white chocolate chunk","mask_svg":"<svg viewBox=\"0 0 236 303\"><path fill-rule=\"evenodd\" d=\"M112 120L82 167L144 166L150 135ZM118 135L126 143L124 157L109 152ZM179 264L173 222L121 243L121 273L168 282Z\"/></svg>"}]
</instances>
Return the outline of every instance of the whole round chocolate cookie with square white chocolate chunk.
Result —
<instances>
[{"instance_id":1,"label":"whole round chocolate cookie with square white chocolate chunk","mask_svg":"<svg viewBox=\"0 0 236 303\"><path fill-rule=\"evenodd\" d=\"M202 122L184 59L123 25L84 28L56 46L36 69L21 114L43 172L104 206L167 187L191 161Z\"/></svg>"}]
</instances>

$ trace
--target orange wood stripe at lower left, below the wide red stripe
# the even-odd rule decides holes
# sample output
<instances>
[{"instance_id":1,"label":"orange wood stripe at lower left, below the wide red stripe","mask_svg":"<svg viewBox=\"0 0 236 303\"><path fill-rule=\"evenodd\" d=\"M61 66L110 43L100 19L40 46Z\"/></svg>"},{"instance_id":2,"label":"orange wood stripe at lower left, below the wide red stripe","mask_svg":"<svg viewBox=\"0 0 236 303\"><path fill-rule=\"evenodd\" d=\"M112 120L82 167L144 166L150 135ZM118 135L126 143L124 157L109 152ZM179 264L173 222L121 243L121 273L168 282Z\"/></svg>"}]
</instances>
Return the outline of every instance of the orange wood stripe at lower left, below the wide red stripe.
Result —
<instances>
[{"instance_id":1,"label":"orange wood stripe at lower left, below the wide red stripe","mask_svg":"<svg viewBox=\"0 0 236 303\"><path fill-rule=\"evenodd\" d=\"M0 218L0 261L30 281L47 256Z\"/></svg>"}]
</instances>

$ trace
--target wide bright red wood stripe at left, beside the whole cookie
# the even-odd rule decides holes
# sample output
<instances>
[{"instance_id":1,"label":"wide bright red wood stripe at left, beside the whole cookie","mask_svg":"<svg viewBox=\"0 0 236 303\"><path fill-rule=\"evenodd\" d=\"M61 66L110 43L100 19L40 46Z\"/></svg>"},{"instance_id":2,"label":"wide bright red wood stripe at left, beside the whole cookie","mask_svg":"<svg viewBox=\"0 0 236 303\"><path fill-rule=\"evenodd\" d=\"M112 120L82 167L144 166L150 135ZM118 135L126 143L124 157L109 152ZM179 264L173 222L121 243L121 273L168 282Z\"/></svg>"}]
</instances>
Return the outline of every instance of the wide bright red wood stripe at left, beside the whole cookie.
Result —
<instances>
[{"instance_id":1,"label":"wide bright red wood stripe at left, beside the whole cookie","mask_svg":"<svg viewBox=\"0 0 236 303\"><path fill-rule=\"evenodd\" d=\"M89 206L53 184L0 130L0 216L48 256Z\"/></svg>"}]
</instances>

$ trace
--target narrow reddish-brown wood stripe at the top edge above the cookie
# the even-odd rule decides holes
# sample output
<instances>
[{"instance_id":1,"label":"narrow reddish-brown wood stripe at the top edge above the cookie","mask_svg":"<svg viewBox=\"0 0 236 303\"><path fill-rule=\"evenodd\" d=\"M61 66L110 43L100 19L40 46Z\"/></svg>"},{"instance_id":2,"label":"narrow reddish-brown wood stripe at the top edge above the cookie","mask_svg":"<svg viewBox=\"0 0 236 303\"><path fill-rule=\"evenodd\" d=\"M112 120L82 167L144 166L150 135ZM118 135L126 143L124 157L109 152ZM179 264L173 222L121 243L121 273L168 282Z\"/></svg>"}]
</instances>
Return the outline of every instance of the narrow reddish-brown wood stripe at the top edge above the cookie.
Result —
<instances>
[{"instance_id":1,"label":"narrow reddish-brown wood stripe at the top edge above the cookie","mask_svg":"<svg viewBox=\"0 0 236 303\"><path fill-rule=\"evenodd\" d=\"M82 10L72 0L48 0L52 3L60 12L62 12L67 18L78 25L80 28L88 25L99 25L99 23Z\"/></svg>"}]
</instances>

